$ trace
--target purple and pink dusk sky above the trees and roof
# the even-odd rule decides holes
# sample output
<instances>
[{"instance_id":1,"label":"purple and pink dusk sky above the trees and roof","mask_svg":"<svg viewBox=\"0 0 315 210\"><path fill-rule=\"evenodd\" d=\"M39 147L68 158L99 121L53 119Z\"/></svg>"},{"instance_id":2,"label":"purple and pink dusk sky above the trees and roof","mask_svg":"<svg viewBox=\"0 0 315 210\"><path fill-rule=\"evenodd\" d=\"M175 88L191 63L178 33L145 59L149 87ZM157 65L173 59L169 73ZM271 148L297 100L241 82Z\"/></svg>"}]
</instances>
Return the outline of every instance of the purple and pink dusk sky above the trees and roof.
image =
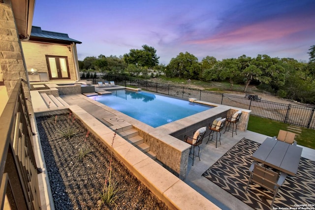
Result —
<instances>
[{"instance_id":1,"label":"purple and pink dusk sky above the trees and roof","mask_svg":"<svg viewBox=\"0 0 315 210\"><path fill-rule=\"evenodd\" d=\"M147 44L163 64L181 52L308 61L315 0L36 0L32 25L81 41L79 60Z\"/></svg>"}]
</instances>

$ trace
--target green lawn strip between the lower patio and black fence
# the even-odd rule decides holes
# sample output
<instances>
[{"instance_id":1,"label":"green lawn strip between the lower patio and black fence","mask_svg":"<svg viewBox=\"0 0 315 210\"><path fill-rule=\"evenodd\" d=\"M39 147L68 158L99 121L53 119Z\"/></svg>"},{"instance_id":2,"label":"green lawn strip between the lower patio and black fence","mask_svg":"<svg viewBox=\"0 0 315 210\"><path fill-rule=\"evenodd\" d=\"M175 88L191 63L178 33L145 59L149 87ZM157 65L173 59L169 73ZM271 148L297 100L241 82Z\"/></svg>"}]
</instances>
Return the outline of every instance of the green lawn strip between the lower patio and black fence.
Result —
<instances>
[{"instance_id":1,"label":"green lawn strip between the lower patio and black fence","mask_svg":"<svg viewBox=\"0 0 315 210\"><path fill-rule=\"evenodd\" d=\"M274 120L269 120L265 118L260 118L256 116L250 116L248 123L248 130L264 134L267 136L277 136L279 130L288 130L287 126L289 124L278 122ZM315 130L307 129L301 127L302 133L295 136L297 144L304 147L315 149Z\"/></svg>"}]
</instances>

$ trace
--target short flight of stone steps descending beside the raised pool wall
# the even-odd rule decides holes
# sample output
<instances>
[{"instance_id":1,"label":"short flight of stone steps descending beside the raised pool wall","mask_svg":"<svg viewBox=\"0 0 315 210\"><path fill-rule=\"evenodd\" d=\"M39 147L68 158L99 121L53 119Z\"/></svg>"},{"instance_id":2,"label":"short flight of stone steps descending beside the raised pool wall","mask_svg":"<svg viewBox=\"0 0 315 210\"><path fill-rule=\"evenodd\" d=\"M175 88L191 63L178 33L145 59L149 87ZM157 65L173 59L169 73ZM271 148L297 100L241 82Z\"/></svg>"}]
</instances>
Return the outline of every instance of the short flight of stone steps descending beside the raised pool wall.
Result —
<instances>
[{"instance_id":1,"label":"short flight of stone steps descending beside the raised pool wall","mask_svg":"<svg viewBox=\"0 0 315 210\"><path fill-rule=\"evenodd\" d=\"M137 129L134 129L132 125L128 125L126 127L122 127L116 130L116 132L130 142L133 146L144 152L150 158L156 160L156 154L150 151L150 146L144 143L144 139L139 135Z\"/></svg>"}]
</instances>

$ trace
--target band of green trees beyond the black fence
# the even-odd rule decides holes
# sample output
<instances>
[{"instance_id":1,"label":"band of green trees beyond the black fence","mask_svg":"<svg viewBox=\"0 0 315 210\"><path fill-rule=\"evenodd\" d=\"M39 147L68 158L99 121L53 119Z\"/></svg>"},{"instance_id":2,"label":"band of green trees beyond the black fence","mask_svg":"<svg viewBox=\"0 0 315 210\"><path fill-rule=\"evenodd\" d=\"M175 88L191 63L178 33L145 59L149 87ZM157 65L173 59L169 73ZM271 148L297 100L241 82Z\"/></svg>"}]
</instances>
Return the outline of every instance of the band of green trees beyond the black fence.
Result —
<instances>
[{"instance_id":1,"label":"band of green trees beyond the black fence","mask_svg":"<svg viewBox=\"0 0 315 210\"><path fill-rule=\"evenodd\" d=\"M315 45L310 47L308 54L309 62L268 55L257 55L255 58L242 55L222 60L207 56L199 61L194 55L181 52L164 65L159 64L154 47L143 45L142 49L131 49L120 57L86 57L79 60L79 68L88 73L98 71L116 76L228 81L231 90L233 85L243 84L244 92L249 85L256 85L258 89L283 98L315 104Z\"/></svg>"}]
</instances>

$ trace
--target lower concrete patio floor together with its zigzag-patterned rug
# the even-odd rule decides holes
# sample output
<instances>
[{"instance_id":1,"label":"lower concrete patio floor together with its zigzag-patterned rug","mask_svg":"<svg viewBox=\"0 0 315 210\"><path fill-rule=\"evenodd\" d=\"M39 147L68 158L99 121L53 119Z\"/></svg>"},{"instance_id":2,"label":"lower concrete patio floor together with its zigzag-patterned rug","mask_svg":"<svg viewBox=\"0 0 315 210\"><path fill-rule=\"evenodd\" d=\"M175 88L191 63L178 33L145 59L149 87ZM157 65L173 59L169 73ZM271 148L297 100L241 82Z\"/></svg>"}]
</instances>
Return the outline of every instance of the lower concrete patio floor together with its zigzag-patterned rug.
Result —
<instances>
[{"instance_id":1,"label":"lower concrete patio floor together with its zigzag-patterned rug","mask_svg":"<svg viewBox=\"0 0 315 210\"><path fill-rule=\"evenodd\" d=\"M207 140L208 137L205 138ZM222 134L221 145L217 148L215 142L209 146L205 141L199 145L200 161L195 159L192 166L189 158L185 182L221 209L270 209L274 196L272 192L252 183L248 192L245 192L253 163L252 154L266 139L271 137L251 131L238 131L233 137L231 133ZM273 141L277 142L275 139ZM294 208L294 204L305 204L306 201L314 204L312 171L315 170L315 152L302 146L297 147L303 148L299 169L296 176L287 175L285 178L275 196L275 208Z\"/></svg>"}]
</instances>

